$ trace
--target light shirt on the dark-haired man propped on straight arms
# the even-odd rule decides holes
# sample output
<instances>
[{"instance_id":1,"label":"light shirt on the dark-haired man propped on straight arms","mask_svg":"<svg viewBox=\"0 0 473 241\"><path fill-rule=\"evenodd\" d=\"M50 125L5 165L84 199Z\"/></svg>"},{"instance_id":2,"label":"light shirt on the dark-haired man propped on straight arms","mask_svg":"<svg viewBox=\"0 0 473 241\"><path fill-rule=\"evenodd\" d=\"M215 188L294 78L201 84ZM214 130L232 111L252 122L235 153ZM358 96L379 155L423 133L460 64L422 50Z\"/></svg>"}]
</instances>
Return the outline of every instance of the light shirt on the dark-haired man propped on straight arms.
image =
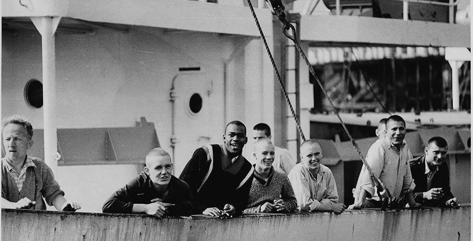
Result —
<instances>
[{"instance_id":1,"label":"light shirt on the dark-haired man propped on straight arms","mask_svg":"<svg viewBox=\"0 0 473 241\"><path fill-rule=\"evenodd\" d=\"M400 149L391 143L389 138L379 139L368 150L366 162L373 174L378 177L394 198L401 193L412 191L415 187L411 175L409 160L412 154L406 146L405 140ZM366 190L374 200L379 200L375 186L371 183L368 171L360 173L360 188Z\"/></svg>"}]
</instances>

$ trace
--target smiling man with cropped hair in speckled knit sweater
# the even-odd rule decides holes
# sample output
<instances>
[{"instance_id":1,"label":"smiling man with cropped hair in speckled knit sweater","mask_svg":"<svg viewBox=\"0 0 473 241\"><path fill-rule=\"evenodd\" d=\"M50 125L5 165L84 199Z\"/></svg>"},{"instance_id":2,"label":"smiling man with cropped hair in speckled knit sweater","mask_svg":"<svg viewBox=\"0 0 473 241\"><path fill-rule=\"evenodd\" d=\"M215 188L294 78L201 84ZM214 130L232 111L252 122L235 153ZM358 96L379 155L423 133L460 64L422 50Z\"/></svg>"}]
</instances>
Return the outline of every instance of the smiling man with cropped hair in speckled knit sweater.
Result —
<instances>
[{"instance_id":1,"label":"smiling man with cropped hair in speckled knit sweater","mask_svg":"<svg viewBox=\"0 0 473 241\"><path fill-rule=\"evenodd\" d=\"M297 201L289 178L273 167L274 156L275 147L269 139L255 142L254 179L244 212L291 212L296 207Z\"/></svg>"}]
</instances>

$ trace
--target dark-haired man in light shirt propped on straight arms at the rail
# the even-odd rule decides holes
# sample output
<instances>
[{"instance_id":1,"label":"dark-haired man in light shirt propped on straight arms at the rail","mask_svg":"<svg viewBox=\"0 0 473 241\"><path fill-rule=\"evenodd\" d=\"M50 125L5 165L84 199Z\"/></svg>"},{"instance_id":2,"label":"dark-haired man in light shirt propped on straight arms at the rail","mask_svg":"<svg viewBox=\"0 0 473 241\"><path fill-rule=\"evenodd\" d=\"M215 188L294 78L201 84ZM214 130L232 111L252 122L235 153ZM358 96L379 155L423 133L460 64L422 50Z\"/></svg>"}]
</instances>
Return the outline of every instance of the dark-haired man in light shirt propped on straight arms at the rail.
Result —
<instances>
[{"instance_id":1,"label":"dark-haired man in light shirt propped on straight arms at the rail","mask_svg":"<svg viewBox=\"0 0 473 241\"><path fill-rule=\"evenodd\" d=\"M420 204L416 203L412 196L415 184L412 180L408 162L412 159L412 154L404 140L405 126L406 123L400 116L393 115L389 117L386 122L386 137L378 139L371 145L366 155L366 162L371 167L373 174L385 184L392 197L399 198L402 194L410 207L416 207ZM365 171L360 175L361 190L359 197L348 208L381 207L382 201L375 191L369 172ZM366 200L368 195L372 197L371 200Z\"/></svg>"}]
</instances>

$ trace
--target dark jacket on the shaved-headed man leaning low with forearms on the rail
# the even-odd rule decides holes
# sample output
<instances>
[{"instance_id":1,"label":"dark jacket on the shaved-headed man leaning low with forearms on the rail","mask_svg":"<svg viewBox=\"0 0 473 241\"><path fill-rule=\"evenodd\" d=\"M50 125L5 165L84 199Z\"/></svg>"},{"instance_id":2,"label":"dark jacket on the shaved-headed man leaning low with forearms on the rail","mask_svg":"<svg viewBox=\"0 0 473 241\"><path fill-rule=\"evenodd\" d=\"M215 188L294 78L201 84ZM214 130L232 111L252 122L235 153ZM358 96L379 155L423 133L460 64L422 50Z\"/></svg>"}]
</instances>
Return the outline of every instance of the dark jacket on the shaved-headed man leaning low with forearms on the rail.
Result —
<instances>
[{"instance_id":1,"label":"dark jacket on the shaved-headed man leaning low with forearms on the rail","mask_svg":"<svg viewBox=\"0 0 473 241\"><path fill-rule=\"evenodd\" d=\"M169 199L166 203L175 204L169 207L170 216L189 216L192 209L191 189L187 183L171 175L168 184ZM104 213L131 213L134 203L149 204L151 200L160 198L153 188L150 176L141 172L124 187L115 192L102 207Z\"/></svg>"}]
</instances>

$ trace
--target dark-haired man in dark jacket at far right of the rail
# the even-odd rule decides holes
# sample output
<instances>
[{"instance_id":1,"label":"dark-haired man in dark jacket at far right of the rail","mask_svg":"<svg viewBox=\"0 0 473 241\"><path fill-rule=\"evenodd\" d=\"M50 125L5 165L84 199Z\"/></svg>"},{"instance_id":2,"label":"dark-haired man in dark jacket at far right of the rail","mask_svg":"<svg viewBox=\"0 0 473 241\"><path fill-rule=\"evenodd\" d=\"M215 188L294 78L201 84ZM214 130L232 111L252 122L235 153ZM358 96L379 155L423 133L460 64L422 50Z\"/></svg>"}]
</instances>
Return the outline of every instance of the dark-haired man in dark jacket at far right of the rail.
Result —
<instances>
[{"instance_id":1,"label":"dark-haired man in dark jacket at far right of the rail","mask_svg":"<svg viewBox=\"0 0 473 241\"><path fill-rule=\"evenodd\" d=\"M425 155L410 161L414 188L414 199L424 206L459 207L457 198L450 192L450 175L447 157L448 144L442 137L429 140Z\"/></svg>"}]
</instances>

